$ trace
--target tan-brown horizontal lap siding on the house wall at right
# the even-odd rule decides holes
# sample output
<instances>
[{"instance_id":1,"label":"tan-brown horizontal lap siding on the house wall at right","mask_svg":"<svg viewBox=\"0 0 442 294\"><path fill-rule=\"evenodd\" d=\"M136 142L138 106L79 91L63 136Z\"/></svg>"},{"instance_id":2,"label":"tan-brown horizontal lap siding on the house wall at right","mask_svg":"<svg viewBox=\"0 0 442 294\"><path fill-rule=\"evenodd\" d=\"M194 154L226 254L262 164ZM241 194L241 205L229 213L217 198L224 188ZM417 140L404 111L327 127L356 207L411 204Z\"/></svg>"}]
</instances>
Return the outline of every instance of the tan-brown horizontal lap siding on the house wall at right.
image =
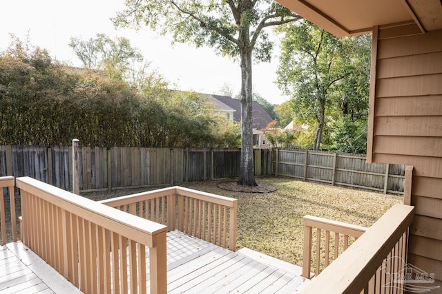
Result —
<instances>
[{"instance_id":1,"label":"tan-brown horizontal lap siding on the house wall at right","mask_svg":"<svg viewBox=\"0 0 442 294\"><path fill-rule=\"evenodd\" d=\"M406 26L374 32L367 158L414 166L408 262L441 285L442 30L414 33Z\"/></svg>"}]
</instances>

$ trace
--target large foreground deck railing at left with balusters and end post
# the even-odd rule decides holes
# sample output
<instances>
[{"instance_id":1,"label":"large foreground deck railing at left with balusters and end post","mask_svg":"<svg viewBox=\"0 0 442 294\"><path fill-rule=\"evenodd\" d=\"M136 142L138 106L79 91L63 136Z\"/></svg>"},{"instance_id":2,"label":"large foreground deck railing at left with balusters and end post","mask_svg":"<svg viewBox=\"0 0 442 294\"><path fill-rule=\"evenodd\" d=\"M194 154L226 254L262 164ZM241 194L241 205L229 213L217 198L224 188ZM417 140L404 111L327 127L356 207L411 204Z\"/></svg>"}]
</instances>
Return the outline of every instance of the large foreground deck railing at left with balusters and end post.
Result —
<instances>
[{"instance_id":1,"label":"large foreground deck railing at left with balusters and end post","mask_svg":"<svg viewBox=\"0 0 442 294\"><path fill-rule=\"evenodd\" d=\"M17 187L23 244L81 291L166 293L167 227L32 178Z\"/></svg>"}]
</instances>

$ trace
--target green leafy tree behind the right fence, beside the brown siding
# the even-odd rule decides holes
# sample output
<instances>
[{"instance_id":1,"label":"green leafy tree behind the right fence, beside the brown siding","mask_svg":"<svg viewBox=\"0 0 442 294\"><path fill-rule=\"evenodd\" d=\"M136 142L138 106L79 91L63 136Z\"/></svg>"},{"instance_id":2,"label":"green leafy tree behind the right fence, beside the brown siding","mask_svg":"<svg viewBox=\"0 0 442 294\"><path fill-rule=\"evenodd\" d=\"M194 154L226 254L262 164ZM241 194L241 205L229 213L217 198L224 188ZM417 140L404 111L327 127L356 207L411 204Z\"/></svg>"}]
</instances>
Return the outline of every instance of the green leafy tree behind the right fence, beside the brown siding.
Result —
<instances>
[{"instance_id":1,"label":"green leafy tree behind the right fence, beside the brown siding","mask_svg":"<svg viewBox=\"0 0 442 294\"><path fill-rule=\"evenodd\" d=\"M313 149L332 145L339 116L367 115L369 37L336 38L316 25L285 25L278 84L292 94L294 117L316 125Z\"/></svg>"}]
</instances>

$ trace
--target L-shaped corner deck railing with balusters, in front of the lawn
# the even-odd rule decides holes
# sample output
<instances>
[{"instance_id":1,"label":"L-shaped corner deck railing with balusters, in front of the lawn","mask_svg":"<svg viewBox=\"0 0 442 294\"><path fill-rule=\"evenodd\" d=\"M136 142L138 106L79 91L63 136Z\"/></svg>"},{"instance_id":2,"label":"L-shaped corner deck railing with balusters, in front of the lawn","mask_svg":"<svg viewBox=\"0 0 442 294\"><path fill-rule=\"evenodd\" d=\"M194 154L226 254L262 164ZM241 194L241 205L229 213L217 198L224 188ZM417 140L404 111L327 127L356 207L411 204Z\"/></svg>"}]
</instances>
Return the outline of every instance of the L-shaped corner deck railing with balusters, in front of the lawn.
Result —
<instances>
[{"instance_id":1,"label":"L-shaped corner deck railing with balusters, in front of the lawn","mask_svg":"<svg viewBox=\"0 0 442 294\"><path fill-rule=\"evenodd\" d=\"M236 250L237 201L211 193L170 187L100 201L103 204Z\"/></svg>"}]
</instances>

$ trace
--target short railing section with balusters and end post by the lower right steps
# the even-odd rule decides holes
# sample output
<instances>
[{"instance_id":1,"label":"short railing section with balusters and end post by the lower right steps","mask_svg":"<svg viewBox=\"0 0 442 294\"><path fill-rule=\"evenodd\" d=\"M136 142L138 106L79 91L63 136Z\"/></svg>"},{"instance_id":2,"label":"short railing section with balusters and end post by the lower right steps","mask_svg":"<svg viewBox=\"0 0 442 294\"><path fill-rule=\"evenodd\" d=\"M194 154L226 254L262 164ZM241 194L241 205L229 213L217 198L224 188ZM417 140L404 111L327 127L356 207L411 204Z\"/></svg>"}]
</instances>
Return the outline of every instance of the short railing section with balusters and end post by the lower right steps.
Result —
<instances>
[{"instance_id":1,"label":"short railing section with balusters and end post by the lower right steps","mask_svg":"<svg viewBox=\"0 0 442 294\"><path fill-rule=\"evenodd\" d=\"M302 277L311 277L311 264L314 264L315 275L338 258L351 242L357 240L366 227L327 220L315 216L304 216L304 251L302 255ZM314 242L313 229L316 233ZM312 258L312 251L314 255Z\"/></svg>"}]
</instances>

